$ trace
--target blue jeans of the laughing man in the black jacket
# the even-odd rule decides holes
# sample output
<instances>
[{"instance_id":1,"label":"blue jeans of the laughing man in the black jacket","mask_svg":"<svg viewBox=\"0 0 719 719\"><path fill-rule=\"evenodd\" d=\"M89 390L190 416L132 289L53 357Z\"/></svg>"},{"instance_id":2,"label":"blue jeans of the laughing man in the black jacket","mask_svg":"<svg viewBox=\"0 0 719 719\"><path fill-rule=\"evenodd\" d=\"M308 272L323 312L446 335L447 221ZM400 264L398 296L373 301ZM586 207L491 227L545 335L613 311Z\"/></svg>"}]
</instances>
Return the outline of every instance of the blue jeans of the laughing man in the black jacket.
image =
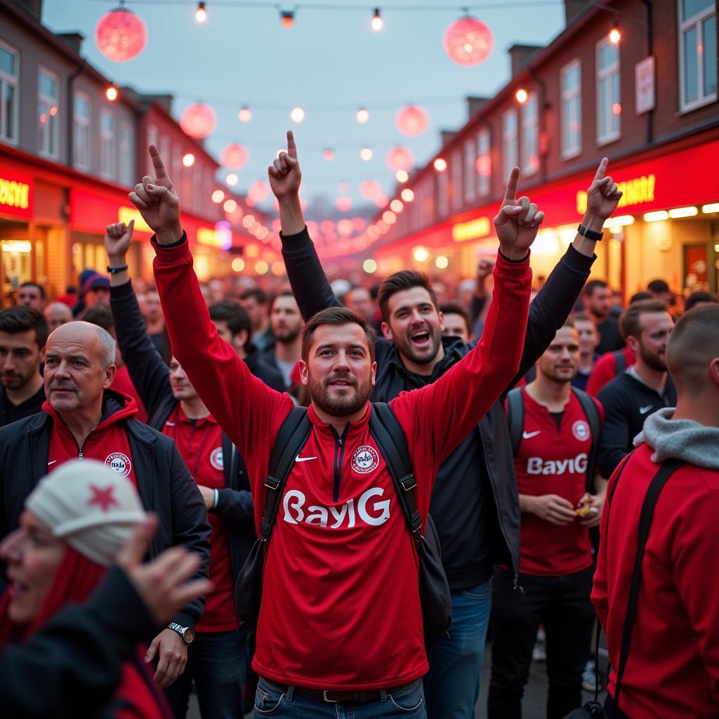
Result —
<instances>
[{"instance_id":1,"label":"blue jeans of the laughing man in the black jacket","mask_svg":"<svg viewBox=\"0 0 719 719\"><path fill-rule=\"evenodd\" d=\"M424 677L424 691L429 719L474 717L491 607L491 580L452 592L449 639L426 638L429 673Z\"/></svg>"}]
</instances>

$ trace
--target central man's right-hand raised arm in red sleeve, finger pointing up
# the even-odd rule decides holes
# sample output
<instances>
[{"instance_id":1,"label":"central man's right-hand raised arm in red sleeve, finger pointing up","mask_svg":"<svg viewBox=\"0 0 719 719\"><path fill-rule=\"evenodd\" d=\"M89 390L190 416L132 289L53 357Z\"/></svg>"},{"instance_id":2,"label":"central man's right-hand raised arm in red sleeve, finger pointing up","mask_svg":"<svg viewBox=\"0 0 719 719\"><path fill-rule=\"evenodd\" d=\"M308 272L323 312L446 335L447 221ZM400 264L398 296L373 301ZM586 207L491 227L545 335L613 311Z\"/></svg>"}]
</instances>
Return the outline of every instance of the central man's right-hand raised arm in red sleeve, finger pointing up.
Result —
<instances>
[{"instance_id":1,"label":"central man's right-hand raised arm in red sleeve, finger pointing up","mask_svg":"<svg viewBox=\"0 0 719 719\"><path fill-rule=\"evenodd\" d=\"M494 219L500 248L482 339L436 382L392 403L411 445L434 467L498 400L519 366L531 293L528 250L544 212L527 197L516 198L518 178L514 168Z\"/></svg>"}]
</instances>

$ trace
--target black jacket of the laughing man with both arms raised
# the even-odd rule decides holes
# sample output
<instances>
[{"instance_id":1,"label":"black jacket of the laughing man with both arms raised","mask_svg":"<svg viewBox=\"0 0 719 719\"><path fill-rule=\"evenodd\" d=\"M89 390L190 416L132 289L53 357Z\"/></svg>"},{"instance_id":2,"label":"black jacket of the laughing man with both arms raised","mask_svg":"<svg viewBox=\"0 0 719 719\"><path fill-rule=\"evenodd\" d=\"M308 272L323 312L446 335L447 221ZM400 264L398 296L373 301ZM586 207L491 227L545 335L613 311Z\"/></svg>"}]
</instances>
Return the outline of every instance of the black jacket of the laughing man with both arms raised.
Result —
<instances>
[{"instance_id":1,"label":"black jacket of the laughing man with both arms raised","mask_svg":"<svg viewBox=\"0 0 719 719\"><path fill-rule=\"evenodd\" d=\"M339 305L332 293L306 230L283 237L283 256L293 292L305 319L324 307ZM554 339L587 281L593 257L569 247L529 306L521 365L505 392L523 377ZM472 345L445 337L445 357L431 377L409 372L392 342L375 347L377 382L372 400L389 401L446 372ZM490 491L485 491L490 487ZM493 505L493 507L492 507ZM442 563L452 590L474 587L489 579L492 563L519 570L519 497L507 421L501 401L482 417L441 464L430 512L442 549Z\"/></svg>"}]
</instances>

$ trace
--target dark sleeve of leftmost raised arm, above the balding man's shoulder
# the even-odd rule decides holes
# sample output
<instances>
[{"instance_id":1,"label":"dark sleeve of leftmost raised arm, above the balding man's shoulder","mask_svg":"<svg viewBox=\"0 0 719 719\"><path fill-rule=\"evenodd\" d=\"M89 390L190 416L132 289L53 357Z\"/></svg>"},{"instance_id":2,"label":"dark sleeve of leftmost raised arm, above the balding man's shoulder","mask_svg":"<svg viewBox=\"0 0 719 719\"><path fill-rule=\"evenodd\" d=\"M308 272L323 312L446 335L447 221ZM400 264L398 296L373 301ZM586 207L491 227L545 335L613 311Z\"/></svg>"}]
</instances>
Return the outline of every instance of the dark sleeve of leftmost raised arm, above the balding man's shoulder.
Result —
<instances>
[{"instance_id":1,"label":"dark sleeve of leftmost raised arm, above the balding man's shoulder","mask_svg":"<svg viewBox=\"0 0 719 719\"><path fill-rule=\"evenodd\" d=\"M131 282L110 288L110 308L122 359L151 418L173 396L168 365L147 334Z\"/></svg>"}]
</instances>

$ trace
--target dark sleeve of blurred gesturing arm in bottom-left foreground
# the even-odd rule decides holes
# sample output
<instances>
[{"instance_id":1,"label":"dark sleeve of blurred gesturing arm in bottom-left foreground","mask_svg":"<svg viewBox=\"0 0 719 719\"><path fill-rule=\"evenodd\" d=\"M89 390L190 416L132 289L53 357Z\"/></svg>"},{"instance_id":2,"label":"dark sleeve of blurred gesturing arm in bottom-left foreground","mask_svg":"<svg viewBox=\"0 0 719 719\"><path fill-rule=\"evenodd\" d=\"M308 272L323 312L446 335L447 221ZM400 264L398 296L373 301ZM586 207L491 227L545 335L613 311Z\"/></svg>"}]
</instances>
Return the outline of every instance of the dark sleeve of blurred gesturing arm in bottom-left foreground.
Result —
<instances>
[{"instance_id":1,"label":"dark sleeve of blurred gesturing arm in bottom-left foreground","mask_svg":"<svg viewBox=\"0 0 719 719\"><path fill-rule=\"evenodd\" d=\"M111 569L85 605L65 608L0 652L2 715L96 716L119 686L124 660L156 631L125 574Z\"/></svg>"}]
</instances>

